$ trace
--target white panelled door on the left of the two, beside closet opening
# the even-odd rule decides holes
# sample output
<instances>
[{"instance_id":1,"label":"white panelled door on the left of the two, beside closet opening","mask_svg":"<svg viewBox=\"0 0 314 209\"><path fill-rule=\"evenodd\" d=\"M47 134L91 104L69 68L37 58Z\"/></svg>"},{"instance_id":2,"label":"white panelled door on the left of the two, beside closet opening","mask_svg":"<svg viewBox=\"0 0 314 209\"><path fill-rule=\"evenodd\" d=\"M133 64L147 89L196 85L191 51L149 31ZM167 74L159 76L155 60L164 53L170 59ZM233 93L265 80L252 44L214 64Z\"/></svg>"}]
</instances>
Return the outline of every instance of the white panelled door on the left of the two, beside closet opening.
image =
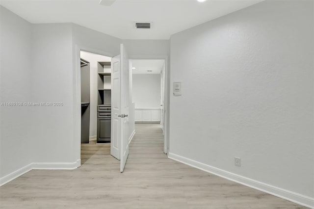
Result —
<instances>
[{"instance_id":1,"label":"white panelled door on the left of the two, beside closet opening","mask_svg":"<svg viewBox=\"0 0 314 209\"><path fill-rule=\"evenodd\" d=\"M120 55L111 59L111 144L110 154L120 159L120 118L121 90L120 90Z\"/></svg>"}]
</instances>

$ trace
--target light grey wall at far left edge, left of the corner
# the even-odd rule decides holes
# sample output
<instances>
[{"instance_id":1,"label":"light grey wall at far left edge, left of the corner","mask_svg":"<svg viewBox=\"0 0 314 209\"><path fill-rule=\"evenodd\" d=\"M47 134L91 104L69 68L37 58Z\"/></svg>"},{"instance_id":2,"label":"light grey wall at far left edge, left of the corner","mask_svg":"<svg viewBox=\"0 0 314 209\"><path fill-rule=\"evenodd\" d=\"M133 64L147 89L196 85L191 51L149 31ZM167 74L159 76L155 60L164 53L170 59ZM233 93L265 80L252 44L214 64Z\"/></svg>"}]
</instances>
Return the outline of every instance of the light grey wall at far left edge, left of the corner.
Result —
<instances>
[{"instance_id":1,"label":"light grey wall at far left edge, left of the corner","mask_svg":"<svg viewBox=\"0 0 314 209\"><path fill-rule=\"evenodd\" d=\"M31 24L0 6L0 102L31 102ZM0 178L32 162L32 107L0 106Z\"/></svg>"}]
</instances>

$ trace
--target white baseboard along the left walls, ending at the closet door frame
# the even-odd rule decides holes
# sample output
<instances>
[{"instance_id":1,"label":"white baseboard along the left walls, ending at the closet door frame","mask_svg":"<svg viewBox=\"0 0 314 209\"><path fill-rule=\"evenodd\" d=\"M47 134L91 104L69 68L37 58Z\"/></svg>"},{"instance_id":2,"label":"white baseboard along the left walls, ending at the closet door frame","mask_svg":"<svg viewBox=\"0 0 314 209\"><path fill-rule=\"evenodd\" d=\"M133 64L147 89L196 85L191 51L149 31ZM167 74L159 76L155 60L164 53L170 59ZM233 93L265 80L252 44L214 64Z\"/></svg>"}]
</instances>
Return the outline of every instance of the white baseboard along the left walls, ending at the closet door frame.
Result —
<instances>
[{"instance_id":1,"label":"white baseboard along the left walls, ending at the closet door frame","mask_svg":"<svg viewBox=\"0 0 314 209\"><path fill-rule=\"evenodd\" d=\"M31 171L33 169L36 170L73 170L80 166L80 159L78 159L75 162L42 162L42 163L30 163L16 171L13 171L12 173L0 178L0 186L11 182L12 180L22 176L23 174L27 173L28 171Z\"/></svg>"}]
</instances>

